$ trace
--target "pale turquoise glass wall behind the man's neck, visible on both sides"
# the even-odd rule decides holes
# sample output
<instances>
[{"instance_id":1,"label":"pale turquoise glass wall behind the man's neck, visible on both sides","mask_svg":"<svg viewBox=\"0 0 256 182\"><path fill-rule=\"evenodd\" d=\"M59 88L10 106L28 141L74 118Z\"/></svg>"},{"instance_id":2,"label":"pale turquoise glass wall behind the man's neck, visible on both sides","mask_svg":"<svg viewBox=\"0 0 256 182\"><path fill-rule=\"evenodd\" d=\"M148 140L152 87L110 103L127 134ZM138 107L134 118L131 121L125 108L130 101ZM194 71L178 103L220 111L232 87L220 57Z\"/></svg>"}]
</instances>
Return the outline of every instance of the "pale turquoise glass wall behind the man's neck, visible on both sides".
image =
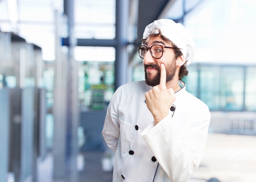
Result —
<instances>
[{"instance_id":1,"label":"pale turquoise glass wall behind the man's neck, visible on both sides","mask_svg":"<svg viewBox=\"0 0 256 182\"><path fill-rule=\"evenodd\" d=\"M191 64L183 78L186 90L211 111L256 111L256 65ZM142 65L133 70L133 81L144 80Z\"/></svg>"}]
</instances>

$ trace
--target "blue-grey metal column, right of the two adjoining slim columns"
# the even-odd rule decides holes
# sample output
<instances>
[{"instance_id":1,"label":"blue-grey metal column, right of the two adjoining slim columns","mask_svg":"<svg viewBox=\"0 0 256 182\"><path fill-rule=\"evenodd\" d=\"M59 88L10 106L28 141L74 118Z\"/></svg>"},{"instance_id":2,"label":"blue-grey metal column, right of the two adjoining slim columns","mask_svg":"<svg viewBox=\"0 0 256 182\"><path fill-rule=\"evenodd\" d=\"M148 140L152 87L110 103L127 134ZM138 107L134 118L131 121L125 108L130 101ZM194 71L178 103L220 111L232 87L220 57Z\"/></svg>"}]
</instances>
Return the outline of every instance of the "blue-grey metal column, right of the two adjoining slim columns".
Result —
<instances>
[{"instance_id":1,"label":"blue-grey metal column, right of the two adjoining slim columns","mask_svg":"<svg viewBox=\"0 0 256 182\"><path fill-rule=\"evenodd\" d=\"M64 0L64 13L68 20L68 70L67 70L67 162L70 171L70 179L78 181L78 171L76 169L76 158L78 155L77 129L79 126L78 107L78 62L74 59L74 0Z\"/></svg>"}]
</instances>

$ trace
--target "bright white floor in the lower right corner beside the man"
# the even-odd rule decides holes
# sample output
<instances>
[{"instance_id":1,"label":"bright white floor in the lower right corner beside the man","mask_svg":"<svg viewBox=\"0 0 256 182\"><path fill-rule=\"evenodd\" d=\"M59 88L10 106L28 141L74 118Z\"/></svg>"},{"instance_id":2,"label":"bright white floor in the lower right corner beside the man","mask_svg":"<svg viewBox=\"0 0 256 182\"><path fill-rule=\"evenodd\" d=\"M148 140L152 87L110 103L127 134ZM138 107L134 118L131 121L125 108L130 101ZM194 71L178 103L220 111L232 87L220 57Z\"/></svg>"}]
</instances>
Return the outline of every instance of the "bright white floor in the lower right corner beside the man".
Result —
<instances>
[{"instance_id":1,"label":"bright white floor in the lower right corner beside the man","mask_svg":"<svg viewBox=\"0 0 256 182\"><path fill-rule=\"evenodd\" d=\"M209 134L204 158L189 182L211 178L256 182L256 136Z\"/></svg>"}]
</instances>

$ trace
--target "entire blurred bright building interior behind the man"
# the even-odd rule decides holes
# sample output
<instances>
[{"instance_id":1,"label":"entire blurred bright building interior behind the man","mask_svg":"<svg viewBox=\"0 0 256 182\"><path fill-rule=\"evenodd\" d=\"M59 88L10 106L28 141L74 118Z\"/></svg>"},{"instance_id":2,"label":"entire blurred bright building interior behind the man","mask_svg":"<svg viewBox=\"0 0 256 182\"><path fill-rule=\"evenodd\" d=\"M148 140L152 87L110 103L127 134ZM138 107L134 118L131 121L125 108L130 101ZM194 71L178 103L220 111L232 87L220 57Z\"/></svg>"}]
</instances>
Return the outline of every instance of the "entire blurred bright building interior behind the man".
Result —
<instances>
[{"instance_id":1,"label":"entire blurred bright building interior behind the man","mask_svg":"<svg viewBox=\"0 0 256 182\"><path fill-rule=\"evenodd\" d=\"M0 0L0 181L111 182L101 136L124 83L144 79L144 28L182 23L196 44L183 80L211 111L189 182L255 182L256 2Z\"/></svg>"}]
</instances>

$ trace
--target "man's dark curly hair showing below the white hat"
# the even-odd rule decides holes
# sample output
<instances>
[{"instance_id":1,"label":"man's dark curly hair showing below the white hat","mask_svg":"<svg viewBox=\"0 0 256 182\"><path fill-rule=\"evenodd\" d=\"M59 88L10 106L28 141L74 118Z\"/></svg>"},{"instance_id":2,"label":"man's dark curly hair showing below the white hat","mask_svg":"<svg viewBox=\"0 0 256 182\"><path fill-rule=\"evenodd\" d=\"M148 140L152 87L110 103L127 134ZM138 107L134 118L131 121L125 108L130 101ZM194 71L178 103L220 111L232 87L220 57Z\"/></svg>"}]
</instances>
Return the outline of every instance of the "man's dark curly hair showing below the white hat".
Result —
<instances>
[{"instance_id":1,"label":"man's dark curly hair showing below the white hat","mask_svg":"<svg viewBox=\"0 0 256 182\"><path fill-rule=\"evenodd\" d=\"M155 28L150 35L148 35L148 37L157 37L160 36L165 42L168 42L172 45L174 53L175 53L175 58L177 59L178 57L182 56L182 52L180 50L180 48L178 48L173 42L171 42L170 39L168 39L167 37L165 37L164 35L162 35L161 30ZM145 45L146 40L148 39L148 37L146 39L142 39L142 44ZM189 73L189 71L186 69L186 63L183 64L180 67L179 70L179 79L182 80L184 76L187 76Z\"/></svg>"}]
</instances>

